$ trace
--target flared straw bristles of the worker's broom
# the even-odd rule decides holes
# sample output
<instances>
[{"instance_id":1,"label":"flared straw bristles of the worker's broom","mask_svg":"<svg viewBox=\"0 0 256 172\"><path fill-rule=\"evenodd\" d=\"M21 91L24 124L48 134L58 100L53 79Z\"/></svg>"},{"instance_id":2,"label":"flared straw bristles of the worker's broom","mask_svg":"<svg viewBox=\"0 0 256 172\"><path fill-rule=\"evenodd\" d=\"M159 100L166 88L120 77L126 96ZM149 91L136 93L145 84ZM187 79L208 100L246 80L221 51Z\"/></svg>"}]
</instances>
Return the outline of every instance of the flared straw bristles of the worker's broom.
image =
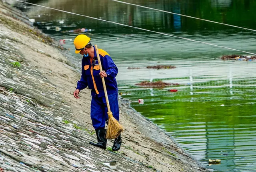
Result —
<instances>
[{"instance_id":1,"label":"flared straw bristles of the worker's broom","mask_svg":"<svg viewBox=\"0 0 256 172\"><path fill-rule=\"evenodd\" d=\"M122 125L113 117L112 112L108 112L108 129L106 139L116 139L123 130Z\"/></svg>"}]
</instances>

